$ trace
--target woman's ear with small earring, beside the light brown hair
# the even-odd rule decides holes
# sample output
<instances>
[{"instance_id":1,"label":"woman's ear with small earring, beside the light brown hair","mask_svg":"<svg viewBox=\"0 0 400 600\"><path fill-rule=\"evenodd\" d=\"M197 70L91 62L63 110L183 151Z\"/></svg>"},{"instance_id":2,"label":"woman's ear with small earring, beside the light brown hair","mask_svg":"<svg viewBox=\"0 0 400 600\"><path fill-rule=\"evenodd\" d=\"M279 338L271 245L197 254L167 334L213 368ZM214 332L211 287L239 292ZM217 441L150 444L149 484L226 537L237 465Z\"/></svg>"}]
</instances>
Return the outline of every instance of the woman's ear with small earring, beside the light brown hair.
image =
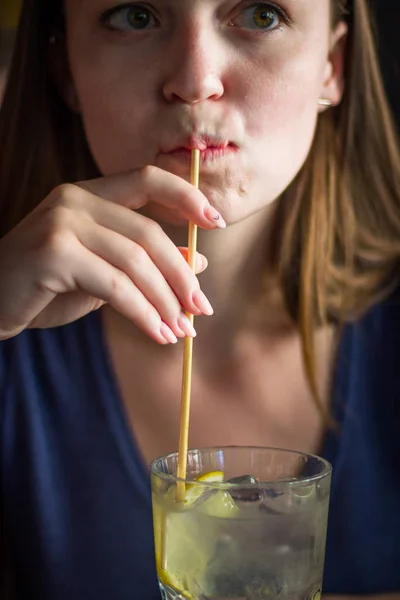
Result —
<instances>
[{"instance_id":1,"label":"woman's ear with small earring, beside the light brown hair","mask_svg":"<svg viewBox=\"0 0 400 600\"><path fill-rule=\"evenodd\" d=\"M330 106L340 104L343 97L347 32L346 23L340 21L331 35L331 46L321 89L321 98L329 100ZM323 110L326 110L326 107L320 108L320 111Z\"/></svg>"}]
</instances>

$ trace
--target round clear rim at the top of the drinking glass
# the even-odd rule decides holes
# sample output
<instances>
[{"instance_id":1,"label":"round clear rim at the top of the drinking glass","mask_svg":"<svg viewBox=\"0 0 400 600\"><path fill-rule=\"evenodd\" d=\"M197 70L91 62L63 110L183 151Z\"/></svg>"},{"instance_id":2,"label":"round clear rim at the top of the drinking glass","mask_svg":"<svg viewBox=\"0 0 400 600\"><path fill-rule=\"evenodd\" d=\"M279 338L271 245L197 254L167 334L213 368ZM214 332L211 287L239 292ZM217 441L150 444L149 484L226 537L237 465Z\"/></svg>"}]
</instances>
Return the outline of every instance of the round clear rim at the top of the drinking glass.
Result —
<instances>
[{"instance_id":1,"label":"round clear rim at the top of the drinking glass","mask_svg":"<svg viewBox=\"0 0 400 600\"><path fill-rule=\"evenodd\" d=\"M154 475L155 477L158 477L159 479L162 479L163 481L166 481L168 483L185 483L185 484L189 484L190 486L194 486L194 487L203 487L203 488L208 488L208 489L217 489L217 490L246 490L246 489L254 489L255 487L257 487L258 489L265 489L267 487L270 486L289 486L289 487L302 487L304 485L310 485L312 483L315 483L316 481L321 481L323 479L325 479L326 477L329 477L332 474L332 465L329 461L327 461L325 458L322 458L321 456L318 456L317 454L312 454L311 452L301 452L298 450L289 450L288 448L275 448L273 446L236 446L236 445L231 445L231 446L209 446L209 447L205 447L205 448L191 448L190 450L187 451L187 454L193 454L195 452L198 453L202 453L202 452L218 452L218 451L224 451L224 450L267 450L269 452L273 451L273 452L279 452L280 454L291 454L293 456L298 456L298 457L303 457L303 458L307 458L307 459L314 459L317 460L321 465L322 465L322 469L321 472L316 474L316 475L310 475L307 477L299 477L296 479L293 479L291 477L282 477L281 479L270 479L268 481L260 481L259 483L229 483L228 481L223 481L223 482L207 482L207 481L198 481L195 479L182 479L181 477L178 477L177 475L172 475L171 473L165 473L164 471L161 471L161 469L157 468L157 465L162 461L162 460L168 460L174 457L178 457L179 452L175 451L175 452L170 452L169 454L166 454L164 456L159 456L158 458L156 458L155 460L153 460L150 463L150 472L151 475ZM247 473L246 473L247 475ZM251 473L250 473L251 475Z\"/></svg>"}]
</instances>

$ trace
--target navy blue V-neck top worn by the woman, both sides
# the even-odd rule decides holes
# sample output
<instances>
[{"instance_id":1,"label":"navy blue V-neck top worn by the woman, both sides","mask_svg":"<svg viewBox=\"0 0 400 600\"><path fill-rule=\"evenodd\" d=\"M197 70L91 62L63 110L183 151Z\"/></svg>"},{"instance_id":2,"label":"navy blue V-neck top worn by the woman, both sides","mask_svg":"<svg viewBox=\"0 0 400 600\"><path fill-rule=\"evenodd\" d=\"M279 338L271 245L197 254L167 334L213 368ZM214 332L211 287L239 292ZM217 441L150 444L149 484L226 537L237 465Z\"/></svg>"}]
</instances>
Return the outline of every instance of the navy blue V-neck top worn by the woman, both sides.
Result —
<instances>
[{"instance_id":1,"label":"navy blue V-neck top worn by the woman, both sides","mask_svg":"<svg viewBox=\"0 0 400 600\"><path fill-rule=\"evenodd\" d=\"M0 403L17 599L159 600L148 473L99 315L1 343ZM333 408L325 592L399 592L400 294L345 329Z\"/></svg>"}]
</instances>

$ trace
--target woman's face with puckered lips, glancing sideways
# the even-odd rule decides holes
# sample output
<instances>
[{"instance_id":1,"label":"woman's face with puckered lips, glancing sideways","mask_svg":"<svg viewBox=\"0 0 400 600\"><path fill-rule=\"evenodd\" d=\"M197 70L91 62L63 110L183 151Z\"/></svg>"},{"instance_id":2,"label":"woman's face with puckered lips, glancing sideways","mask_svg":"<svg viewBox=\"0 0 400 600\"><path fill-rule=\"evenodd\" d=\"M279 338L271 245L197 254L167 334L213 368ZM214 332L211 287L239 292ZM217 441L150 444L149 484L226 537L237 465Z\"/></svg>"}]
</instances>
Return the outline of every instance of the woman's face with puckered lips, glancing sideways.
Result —
<instances>
[{"instance_id":1,"label":"woman's face with puckered lips, glancing sideways","mask_svg":"<svg viewBox=\"0 0 400 600\"><path fill-rule=\"evenodd\" d=\"M67 0L71 90L103 174L156 165L189 178L232 223L303 165L318 99L341 95L330 0ZM71 96L71 90L69 96Z\"/></svg>"}]
</instances>

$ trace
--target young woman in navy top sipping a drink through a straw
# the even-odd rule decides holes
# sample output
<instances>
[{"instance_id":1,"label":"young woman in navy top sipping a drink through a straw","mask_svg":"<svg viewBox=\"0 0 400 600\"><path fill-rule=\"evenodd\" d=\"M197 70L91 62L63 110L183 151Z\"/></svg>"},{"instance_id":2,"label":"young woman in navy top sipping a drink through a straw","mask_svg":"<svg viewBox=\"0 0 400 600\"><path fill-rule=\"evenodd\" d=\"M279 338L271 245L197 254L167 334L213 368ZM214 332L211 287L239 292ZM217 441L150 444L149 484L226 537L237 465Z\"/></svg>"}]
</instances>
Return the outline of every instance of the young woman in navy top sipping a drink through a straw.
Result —
<instances>
[{"instance_id":1,"label":"young woman in navy top sipping a drink through a straw","mask_svg":"<svg viewBox=\"0 0 400 600\"><path fill-rule=\"evenodd\" d=\"M366 1L25 0L0 147L16 598L158 597L184 311L190 445L324 455L325 592L398 596L400 169Z\"/></svg>"}]
</instances>

